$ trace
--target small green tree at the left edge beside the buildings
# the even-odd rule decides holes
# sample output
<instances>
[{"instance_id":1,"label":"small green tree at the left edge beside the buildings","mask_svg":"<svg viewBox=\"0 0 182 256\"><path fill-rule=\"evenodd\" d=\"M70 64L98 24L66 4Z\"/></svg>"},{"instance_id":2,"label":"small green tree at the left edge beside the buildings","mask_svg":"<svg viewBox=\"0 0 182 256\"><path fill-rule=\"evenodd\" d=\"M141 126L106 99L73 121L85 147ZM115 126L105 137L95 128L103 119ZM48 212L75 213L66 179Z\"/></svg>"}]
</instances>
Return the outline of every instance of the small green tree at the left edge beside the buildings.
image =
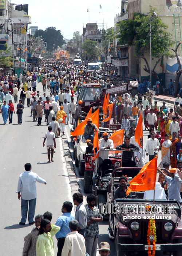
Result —
<instances>
[{"instance_id":1,"label":"small green tree at the left edge beside the buildings","mask_svg":"<svg viewBox=\"0 0 182 256\"><path fill-rule=\"evenodd\" d=\"M8 45L4 45L4 50L0 50L0 67L1 68L10 68L12 66L12 54L11 48L8 48Z\"/></svg>"}]
</instances>

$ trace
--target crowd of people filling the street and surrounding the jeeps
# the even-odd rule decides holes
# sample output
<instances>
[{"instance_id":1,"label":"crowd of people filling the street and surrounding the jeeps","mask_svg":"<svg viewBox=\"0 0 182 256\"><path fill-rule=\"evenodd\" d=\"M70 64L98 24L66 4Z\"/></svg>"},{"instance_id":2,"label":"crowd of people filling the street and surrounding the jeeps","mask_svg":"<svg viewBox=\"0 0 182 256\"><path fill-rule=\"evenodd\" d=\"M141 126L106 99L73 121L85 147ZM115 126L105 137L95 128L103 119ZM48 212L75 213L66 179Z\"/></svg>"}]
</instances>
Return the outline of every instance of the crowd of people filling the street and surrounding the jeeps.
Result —
<instances>
[{"instance_id":1,"label":"crowd of people filling the street and surrounding the jeeps","mask_svg":"<svg viewBox=\"0 0 182 256\"><path fill-rule=\"evenodd\" d=\"M96 71L87 73L85 64L74 67L71 63L55 60L45 60L41 66L34 67L31 73L20 74L19 78L17 74L4 74L0 78L0 104L4 124L7 123L8 115L9 124L13 122L13 113L15 114L13 98L14 103L17 103L18 124L23 122L25 105L30 108L30 115L33 117L32 122L37 121L37 126L42 125L42 118L45 116L44 122L48 125L48 132L44 136L43 147L46 143L48 163L54 162L56 138L65 134L65 125L69 125L70 129L73 129L79 119L84 120L85 118L81 108L82 100L78 101L78 106L76 105L75 98L78 95L78 87L84 83L101 83L104 84L104 89L113 87L114 81L112 79L114 74L112 79L105 79L105 75L108 75L107 67L103 68L100 73ZM37 84L41 84L43 95L37 90ZM139 83L137 95L131 96L128 93L110 95L109 102L115 103L116 114L119 117L118 122L125 133L123 143L117 146L116 149L124 150L122 154L123 167L135 167L139 165L139 162L144 166L145 154L149 155L149 161L151 161L161 150L162 158L158 167L159 182L163 186L163 181L167 181L168 185L165 184L164 188L165 192L168 191L168 193L166 192L168 198L177 199L181 203L182 99L177 95L174 108L170 109L166 102L163 102L162 106L158 106L158 102L155 101L153 105L153 93L148 88L148 86L150 87L150 81L144 81L143 84ZM140 114L142 114L145 130L149 131L146 145L141 139L142 148L135 142L135 129ZM88 146L86 151L88 153L93 152L94 135L91 133L93 130L96 131L97 127L92 124L92 119L88 118L84 129L84 138ZM100 151L99 153L99 167L104 159L108 158L108 149L111 150L113 148L114 144L109 139L107 132L104 132L102 137L99 135L99 149L105 149L105 151ZM140 153L137 151L140 151ZM161 171L161 168L165 168L166 173ZM167 170L169 170L170 174ZM28 176L27 173L29 173ZM31 181L27 181L29 176L32 177ZM25 167L25 173L19 177L18 198L21 199L22 215L19 224L24 225L26 222L29 203L31 210L29 210L28 221L29 224L35 223L36 227L24 239L23 255L54 256L52 236L55 235L58 240L58 256L74 255L74 246L80 253L77 253L77 255L95 256L99 236L98 222L103 221L103 217L96 207L96 197L93 194L87 196L87 206L85 207L83 206L83 195L76 193L73 196L73 201L76 205L75 217L71 214L72 203L64 202L62 207L63 215L58 218L55 225L51 224L52 216L49 216L50 213L48 215L45 215L45 213L45 216L37 215L34 222L33 217L36 206L35 181L46 184L45 180L31 172L31 167L28 165L28 167ZM24 182L30 182L26 185L27 188L33 186L31 197L29 197L29 193L25 188L22 189ZM176 193L171 192L174 186L177 187ZM123 180L123 178L120 179L120 189L117 190L117 193L118 195L126 195L126 180ZM32 235L30 235L31 233ZM31 243L33 240L34 242ZM32 251L32 254L28 253L29 250ZM103 251L105 251L105 254L102 254ZM110 247L107 242L100 243L99 253L100 255L109 255Z\"/></svg>"}]
</instances>

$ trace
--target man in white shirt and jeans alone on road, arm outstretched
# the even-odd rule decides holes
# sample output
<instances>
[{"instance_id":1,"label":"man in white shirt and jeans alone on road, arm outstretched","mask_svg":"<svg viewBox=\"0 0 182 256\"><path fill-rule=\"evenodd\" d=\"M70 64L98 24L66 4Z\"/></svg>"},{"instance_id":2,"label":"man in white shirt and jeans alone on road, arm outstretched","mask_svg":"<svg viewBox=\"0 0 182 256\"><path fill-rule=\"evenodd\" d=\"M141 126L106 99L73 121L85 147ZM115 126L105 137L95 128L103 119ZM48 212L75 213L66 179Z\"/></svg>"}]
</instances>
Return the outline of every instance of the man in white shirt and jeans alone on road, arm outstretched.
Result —
<instances>
[{"instance_id":1,"label":"man in white shirt and jeans alone on road, arm outstretched","mask_svg":"<svg viewBox=\"0 0 182 256\"><path fill-rule=\"evenodd\" d=\"M21 173L18 180L18 199L21 198L21 221L20 225L25 225L27 220L27 212L28 212L28 222L30 225L35 223L33 221L33 217L35 214L35 206L36 206L36 184L35 182L40 182L43 184L47 184L45 180L40 178L36 173L33 173L31 163L25 163L25 172ZM21 192L21 195L20 195ZM28 210L29 204L29 210Z\"/></svg>"}]
</instances>

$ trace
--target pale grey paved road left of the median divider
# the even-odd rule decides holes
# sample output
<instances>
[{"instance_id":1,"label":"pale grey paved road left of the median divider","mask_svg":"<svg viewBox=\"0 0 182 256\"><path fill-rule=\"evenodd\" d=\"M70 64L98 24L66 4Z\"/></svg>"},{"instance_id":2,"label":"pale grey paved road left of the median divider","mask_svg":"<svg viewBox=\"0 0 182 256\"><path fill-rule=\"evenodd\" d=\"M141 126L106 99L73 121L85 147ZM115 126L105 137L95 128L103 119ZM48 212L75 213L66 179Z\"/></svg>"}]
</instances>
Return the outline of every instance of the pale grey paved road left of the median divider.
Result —
<instances>
[{"instance_id":1,"label":"pale grey paved road left of the median divider","mask_svg":"<svg viewBox=\"0 0 182 256\"><path fill-rule=\"evenodd\" d=\"M43 89L38 84L37 89L43 95ZM47 89L46 89L47 90ZM48 93L46 92L46 95ZM17 104L14 104L16 107ZM47 163L47 150L43 148L44 134L47 132L46 123L37 126L30 116L31 108L25 109L22 125L17 124L17 114L13 115L12 125L3 125L0 114L1 129L1 179L0 179L0 255L22 255L24 236L33 226L18 225L21 219L21 201L17 199L17 182L19 175L24 172L24 164L30 162L32 171L47 181L47 185L37 183L37 203L35 214L50 211L53 214L52 223L62 215L64 201L71 201L71 188L67 176L66 163L63 158L61 138L56 139L54 162ZM15 110L16 113L16 110ZM43 116L44 119L44 116ZM63 191L64 195L63 195ZM28 221L27 221L28 223ZM55 242L55 255L57 246Z\"/></svg>"}]
</instances>

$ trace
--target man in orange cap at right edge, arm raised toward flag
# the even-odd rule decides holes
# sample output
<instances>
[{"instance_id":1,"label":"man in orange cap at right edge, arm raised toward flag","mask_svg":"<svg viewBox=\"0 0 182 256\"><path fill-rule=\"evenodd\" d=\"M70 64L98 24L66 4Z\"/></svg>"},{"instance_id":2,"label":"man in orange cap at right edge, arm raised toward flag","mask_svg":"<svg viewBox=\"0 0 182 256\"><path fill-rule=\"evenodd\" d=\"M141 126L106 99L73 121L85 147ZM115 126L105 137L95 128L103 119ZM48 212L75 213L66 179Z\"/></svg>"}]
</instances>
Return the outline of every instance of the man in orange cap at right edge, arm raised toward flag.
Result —
<instances>
[{"instance_id":1,"label":"man in orange cap at right edge, arm raised toward flag","mask_svg":"<svg viewBox=\"0 0 182 256\"><path fill-rule=\"evenodd\" d=\"M165 177L165 180L169 183L168 186L168 199L170 200L178 200L179 203L182 203L181 195L180 195L180 188L181 188L181 178L179 178L178 168L172 168L169 170L170 177L167 176L165 173L161 171L161 168L158 167L157 170L163 177Z\"/></svg>"}]
</instances>

